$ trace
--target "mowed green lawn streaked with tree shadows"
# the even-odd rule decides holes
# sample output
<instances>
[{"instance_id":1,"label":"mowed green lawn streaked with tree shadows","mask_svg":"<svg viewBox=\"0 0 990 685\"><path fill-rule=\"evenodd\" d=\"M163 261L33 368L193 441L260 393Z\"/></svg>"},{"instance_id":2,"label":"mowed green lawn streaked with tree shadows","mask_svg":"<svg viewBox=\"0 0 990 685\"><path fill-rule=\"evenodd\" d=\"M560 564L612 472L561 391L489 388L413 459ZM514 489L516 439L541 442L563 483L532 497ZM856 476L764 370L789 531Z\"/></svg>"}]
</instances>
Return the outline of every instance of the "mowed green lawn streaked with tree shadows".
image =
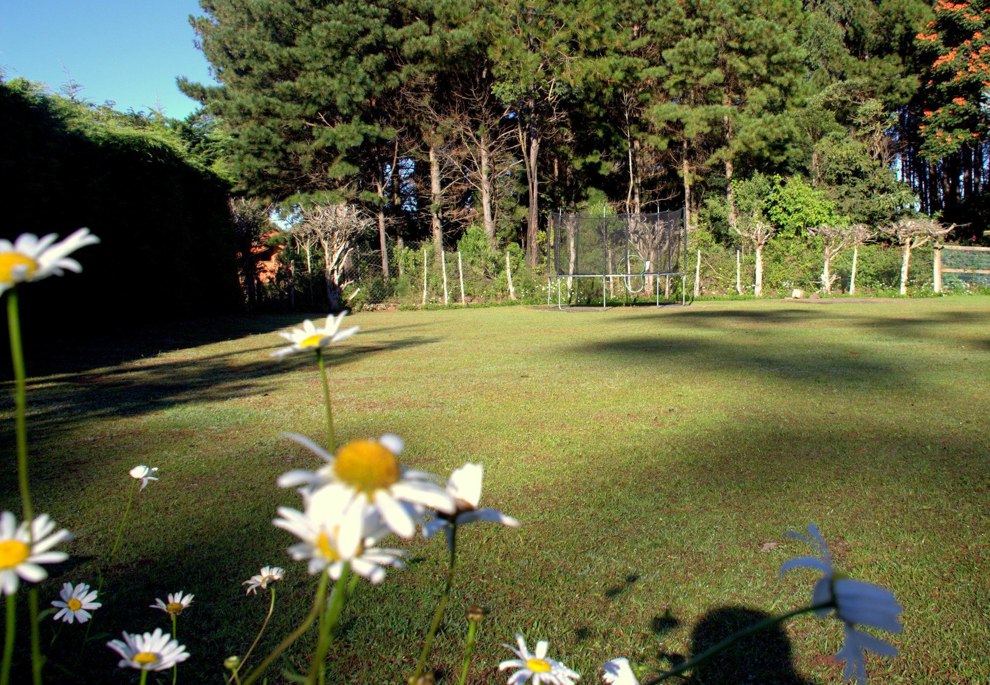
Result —
<instances>
[{"instance_id":1,"label":"mowed green lawn streaked with tree shadows","mask_svg":"<svg viewBox=\"0 0 990 685\"><path fill-rule=\"evenodd\" d=\"M311 359L268 357L275 332L301 318L161 326L35 356L36 509L76 534L72 559L42 588L45 604L64 580L95 585L127 471L146 463L160 481L136 497L93 634L166 628L148 605L195 593L179 620L192 652L179 680L221 682L223 658L244 653L267 609L241 586L262 564L288 572L254 663L302 619L314 581L270 524L277 506L299 500L274 481L317 465L279 434L320 440L324 409ZM361 333L330 355L339 439L396 433L405 464L442 475L481 462L483 503L523 522L464 529L431 659L441 682L456 682L472 603L489 616L470 683L504 682L500 643L516 632L531 645L549 639L582 682L598 682L599 665L619 655L659 670L759 612L807 602L815 576L777 570L808 551L784 534L809 522L843 569L905 607L893 637L901 656L871 659L871 682L990 682L990 298L350 321ZM12 436L9 402L4 411ZM18 511L12 442L2 506ZM330 682L411 674L446 547L400 546L409 568L362 584L347 606ZM135 680L115 671L108 637L77 666L80 633L60 632L50 677L65 668L87 682ZM288 652L296 668L314 637ZM802 617L698 682L840 682L829 657L840 645L838 622Z\"/></svg>"}]
</instances>

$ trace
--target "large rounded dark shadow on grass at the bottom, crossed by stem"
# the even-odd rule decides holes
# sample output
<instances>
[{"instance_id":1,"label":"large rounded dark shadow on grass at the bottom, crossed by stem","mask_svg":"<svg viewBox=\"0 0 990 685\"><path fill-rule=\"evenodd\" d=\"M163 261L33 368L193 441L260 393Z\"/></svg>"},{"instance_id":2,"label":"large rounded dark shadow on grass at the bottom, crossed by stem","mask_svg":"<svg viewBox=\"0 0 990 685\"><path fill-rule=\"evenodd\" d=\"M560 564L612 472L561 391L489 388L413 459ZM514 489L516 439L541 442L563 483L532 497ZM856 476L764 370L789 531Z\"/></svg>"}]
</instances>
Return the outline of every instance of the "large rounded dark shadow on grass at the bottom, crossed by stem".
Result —
<instances>
[{"instance_id":1,"label":"large rounded dark shadow on grass at the bottom, crossed by stem","mask_svg":"<svg viewBox=\"0 0 990 685\"><path fill-rule=\"evenodd\" d=\"M745 607L722 607L709 612L691 634L691 655L704 652L768 614ZM794 669L791 643L780 626L744 637L698 666L694 681L705 685L811 685Z\"/></svg>"}]
</instances>

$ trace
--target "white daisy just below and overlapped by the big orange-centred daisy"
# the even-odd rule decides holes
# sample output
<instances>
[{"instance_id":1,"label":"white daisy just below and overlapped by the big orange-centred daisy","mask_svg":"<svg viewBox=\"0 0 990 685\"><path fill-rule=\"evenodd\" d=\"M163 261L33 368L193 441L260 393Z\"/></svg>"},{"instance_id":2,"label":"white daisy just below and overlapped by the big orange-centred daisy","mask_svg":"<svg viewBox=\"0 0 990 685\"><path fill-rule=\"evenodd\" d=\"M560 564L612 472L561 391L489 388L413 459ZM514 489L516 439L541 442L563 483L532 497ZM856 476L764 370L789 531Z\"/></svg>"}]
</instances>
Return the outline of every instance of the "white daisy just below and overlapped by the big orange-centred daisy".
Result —
<instances>
[{"instance_id":1,"label":"white daisy just below and overlapped by the big orange-centred daisy","mask_svg":"<svg viewBox=\"0 0 990 685\"><path fill-rule=\"evenodd\" d=\"M406 552L374 546L389 532L374 510L348 507L338 495L332 488L307 494L305 513L289 507L278 508L282 518L272 524L302 540L289 547L292 558L309 559L310 573L320 573L326 568L334 580L341 577L344 564L349 561L354 573L375 585L385 579L385 566L404 568L401 557Z\"/></svg>"}]
</instances>

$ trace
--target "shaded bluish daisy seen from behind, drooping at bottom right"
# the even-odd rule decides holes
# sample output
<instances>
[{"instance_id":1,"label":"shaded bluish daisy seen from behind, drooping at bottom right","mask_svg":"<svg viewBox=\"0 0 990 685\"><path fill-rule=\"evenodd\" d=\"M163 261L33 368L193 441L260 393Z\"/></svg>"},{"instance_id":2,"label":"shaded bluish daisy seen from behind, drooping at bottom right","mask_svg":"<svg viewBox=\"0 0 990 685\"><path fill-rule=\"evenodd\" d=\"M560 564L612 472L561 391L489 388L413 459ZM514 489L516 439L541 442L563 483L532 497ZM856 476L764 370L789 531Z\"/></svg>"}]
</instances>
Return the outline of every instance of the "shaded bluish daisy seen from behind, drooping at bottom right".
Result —
<instances>
[{"instance_id":1,"label":"shaded bluish daisy seen from behind, drooping at bottom right","mask_svg":"<svg viewBox=\"0 0 990 685\"><path fill-rule=\"evenodd\" d=\"M789 532L791 538L804 540L813 547L818 547L821 556L798 556L785 561L780 566L780 575L793 568L814 568L824 574L812 590L812 604L830 604L831 606L817 610L820 616L828 616L833 610L836 617L845 624L845 644L836 654L836 658L845 661L842 677L851 678L855 674L860 685L866 682L866 671L863 651L868 649L881 656L896 656L897 648L882 639L867 635L856 630L856 626L869 626L889 633L900 633L903 626L897 618L904 612L898 604L894 593L889 590L867 583L853 580L839 573L832 565L832 555L829 546L819 533L815 524L808 526L809 536Z\"/></svg>"}]
</instances>

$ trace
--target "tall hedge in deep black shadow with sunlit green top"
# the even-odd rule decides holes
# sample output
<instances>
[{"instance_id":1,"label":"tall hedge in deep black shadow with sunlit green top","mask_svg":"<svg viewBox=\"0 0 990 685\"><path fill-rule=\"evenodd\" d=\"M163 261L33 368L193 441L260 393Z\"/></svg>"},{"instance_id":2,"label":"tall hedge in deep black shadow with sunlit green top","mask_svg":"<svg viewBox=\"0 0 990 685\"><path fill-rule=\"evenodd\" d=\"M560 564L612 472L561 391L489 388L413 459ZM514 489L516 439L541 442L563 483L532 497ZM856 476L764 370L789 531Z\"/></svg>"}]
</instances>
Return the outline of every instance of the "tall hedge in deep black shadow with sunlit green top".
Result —
<instances>
[{"instance_id":1,"label":"tall hedge in deep black shadow with sunlit green top","mask_svg":"<svg viewBox=\"0 0 990 685\"><path fill-rule=\"evenodd\" d=\"M27 334L239 307L230 185L211 158L209 122L122 114L76 95L0 82L0 235L85 226L102 240L77 255L82 274L24 288Z\"/></svg>"}]
</instances>

